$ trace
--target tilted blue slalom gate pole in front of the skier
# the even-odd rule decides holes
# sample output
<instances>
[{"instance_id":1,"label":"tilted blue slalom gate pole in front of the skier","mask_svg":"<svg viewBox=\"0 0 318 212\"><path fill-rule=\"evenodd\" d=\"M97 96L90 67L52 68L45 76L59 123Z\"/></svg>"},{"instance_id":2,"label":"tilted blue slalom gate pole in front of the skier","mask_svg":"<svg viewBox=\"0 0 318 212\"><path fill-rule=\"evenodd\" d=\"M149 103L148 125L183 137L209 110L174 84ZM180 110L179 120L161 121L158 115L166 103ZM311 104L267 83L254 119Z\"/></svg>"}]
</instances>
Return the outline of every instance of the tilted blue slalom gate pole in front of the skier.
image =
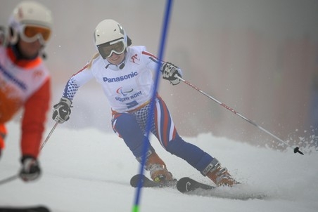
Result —
<instances>
[{"instance_id":1,"label":"tilted blue slalom gate pole in front of the skier","mask_svg":"<svg viewBox=\"0 0 318 212\"><path fill-rule=\"evenodd\" d=\"M167 0L167 4L165 7L165 16L163 17L163 29L161 30L161 39L160 39L160 48L158 53L158 59L160 61L163 60L163 52L165 50L165 39L167 37L167 28L170 20L170 11L172 7L172 0ZM148 138L151 131L151 121L153 120L153 110L155 105L155 96L158 89L158 81L160 76L160 62L158 62L157 70L155 72L155 79L154 79L154 86L153 86L153 95L150 102L150 110L147 117L147 124L146 124L146 138L144 139L144 147L143 147L143 154L141 157L141 164L140 164L140 171L139 173L142 175L144 174L144 166L146 164L146 152L149 148ZM142 190L142 183L141 179L139 179L138 186L136 187L136 194L135 194L135 201L134 206L132 207L132 212L139 212L139 202L141 198L141 190Z\"/></svg>"}]
</instances>

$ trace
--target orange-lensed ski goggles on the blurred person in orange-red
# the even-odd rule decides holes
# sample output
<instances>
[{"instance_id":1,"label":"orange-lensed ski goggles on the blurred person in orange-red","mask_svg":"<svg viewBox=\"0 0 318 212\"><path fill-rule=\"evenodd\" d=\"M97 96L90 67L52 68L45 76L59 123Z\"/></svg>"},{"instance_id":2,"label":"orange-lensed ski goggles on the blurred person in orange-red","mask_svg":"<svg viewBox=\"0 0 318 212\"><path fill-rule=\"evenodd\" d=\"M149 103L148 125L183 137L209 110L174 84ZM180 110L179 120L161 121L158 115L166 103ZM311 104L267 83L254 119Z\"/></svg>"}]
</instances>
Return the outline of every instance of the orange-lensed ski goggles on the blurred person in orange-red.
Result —
<instances>
[{"instance_id":1,"label":"orange-lensed ski goggles on the blurred person in orange-red","mask_svg":"<svg viewBox=\"0 0 318 212\"><path fill-rule=\"evenodd\" d=\"M51 29L34 25L22 25L20 28L20 37L28 43L37 41L37 39L46 42L51 37Z\"/></svg>"}]
</instances>

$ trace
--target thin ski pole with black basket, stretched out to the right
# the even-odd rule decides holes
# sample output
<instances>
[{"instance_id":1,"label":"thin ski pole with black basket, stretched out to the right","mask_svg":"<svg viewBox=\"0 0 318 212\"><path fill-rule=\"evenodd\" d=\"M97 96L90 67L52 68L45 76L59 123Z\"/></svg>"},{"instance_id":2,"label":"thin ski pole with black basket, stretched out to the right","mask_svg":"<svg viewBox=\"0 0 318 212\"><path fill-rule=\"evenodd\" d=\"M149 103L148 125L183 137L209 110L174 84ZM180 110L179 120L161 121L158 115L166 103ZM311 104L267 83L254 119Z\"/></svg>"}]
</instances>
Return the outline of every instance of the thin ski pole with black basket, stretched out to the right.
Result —
<instances>
[{"instance_id":1,"label":"thin ski pole with black basket, stretched out to the right","mask_svg":"<svg viewBox=\"0 0 318 212\"><path fill-rule=\"evenodd\" d=\"M285 145L287 145L288 147L291 147L291 145L289 145L288 143L286 143L284 140L281 140L281 138L278 138L276 135L274 135L273 133L270 133L269 131L267 131L265 128L262 128L262 126L259 126L258 124L255 124L255 122L251 121L250 119L243 117L241 114L239 114L239 112L236 112L235 110L233 110L231 107L225 105L224 103L220 102L219 100L213 98L211 95L208 95L208 93L205 93L204 91L202 91L200 88L194 86L193 84L191 84L189 81L186 81L184 79L182 79L182 77L179 77L176 75L174 75L175 77L177 77L178 79L180 79L181 81L183 81L185 84L187 84L188 86L191 86L192 88L196 89L196 91L199 91L200 93L202 93L203 95L207 96L208 98L210 98L211 100L217 102L219 105L227 108L227 110L233 112L234 114L238 115L239 117L241 117L242 119L244 119L245 121L248 121L248 123L253 124L253 126L256 126L257 128L259 128L261 131L267 133L268 135L271 135L272 137L276 138L276 140L279 140L281 143L284 143ZM293 148L293 147L291 147ZM293 152L294 153L299 153L299 154L303 154L303 152L300 152L299 147L295 147L293 148Z\"/></svg>"}]
</instances>

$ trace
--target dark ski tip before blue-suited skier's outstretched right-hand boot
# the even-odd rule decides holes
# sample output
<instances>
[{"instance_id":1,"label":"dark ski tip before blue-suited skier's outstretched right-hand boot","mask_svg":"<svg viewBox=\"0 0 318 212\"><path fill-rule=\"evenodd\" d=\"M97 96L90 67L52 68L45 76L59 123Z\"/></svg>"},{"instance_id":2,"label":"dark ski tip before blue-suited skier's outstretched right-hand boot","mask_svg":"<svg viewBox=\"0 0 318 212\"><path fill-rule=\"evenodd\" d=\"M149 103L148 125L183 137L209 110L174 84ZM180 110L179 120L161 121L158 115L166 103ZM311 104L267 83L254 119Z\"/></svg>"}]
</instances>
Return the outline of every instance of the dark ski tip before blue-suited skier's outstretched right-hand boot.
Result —
<instances>
[{"instance_id":1,"label":"dark ski tip before blue-suited skier's outstretched right-hand boot","mask_svg":"<svg viewBox=\"0 0 318 212\"><path fill-rule=\"evenodd\" d=\"M182 193L192 192L197 189L214 190L215 186L199 183L191 178L181 178L177 183L177 190Z\"/></svg>"}]
</instances>

